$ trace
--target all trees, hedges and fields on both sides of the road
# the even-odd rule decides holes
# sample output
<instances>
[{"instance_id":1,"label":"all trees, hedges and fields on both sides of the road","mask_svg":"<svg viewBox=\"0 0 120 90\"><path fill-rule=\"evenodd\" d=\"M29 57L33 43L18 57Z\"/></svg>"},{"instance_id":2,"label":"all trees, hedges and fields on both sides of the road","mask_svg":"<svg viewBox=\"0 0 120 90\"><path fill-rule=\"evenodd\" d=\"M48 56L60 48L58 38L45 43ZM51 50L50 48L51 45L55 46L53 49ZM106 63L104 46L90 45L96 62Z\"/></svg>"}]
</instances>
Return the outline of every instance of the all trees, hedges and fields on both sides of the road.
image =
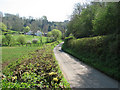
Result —
<instances>
[{"instance_id":1,"label":"all trees, hedges and fields on both sides of the road","mask_svg":"<svg viewBox=\"0 0 120 90\"><path fill-rule=\"evenodd\" d=\"M0 23L2 64L8 64L3 67L2 88L69 88L52 51L65 36L65 52L120 81L119 4L78 3L70 22L6 13ZM38 30L42 34L35 36ZM26 35L29 31L33 36Z\"/></svg>"}]
</instances>

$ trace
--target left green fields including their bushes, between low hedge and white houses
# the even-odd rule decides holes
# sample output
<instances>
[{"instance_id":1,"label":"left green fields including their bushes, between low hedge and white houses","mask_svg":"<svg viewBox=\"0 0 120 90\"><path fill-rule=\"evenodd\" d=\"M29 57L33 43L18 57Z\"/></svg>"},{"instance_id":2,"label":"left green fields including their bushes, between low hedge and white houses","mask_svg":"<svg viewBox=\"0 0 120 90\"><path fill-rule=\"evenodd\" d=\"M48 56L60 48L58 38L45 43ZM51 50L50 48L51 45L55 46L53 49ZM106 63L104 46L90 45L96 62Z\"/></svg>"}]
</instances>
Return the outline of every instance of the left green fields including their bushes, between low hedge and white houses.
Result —
<instances>
[{"instance_id":1,"label":"left green fields including their bushes, between low hedge and white houses","mask_svg":"<svg viewBox=\"0 0 120 90\"><path fill-rule=\"evenodd\" d=\"M9 36L9 38L8 38ZM20 58L23 55L28 54L31 51L34 51L38 48L38 46L42 46L46 43L46 37L42 37L42 43L39 45L34 45L32 43L32 39L39 39L39 36L31 35L2 35L2 62L3 64L9 64L10 62ZM8 41L9 40L9 41ZM7 43L10 43L10 47ZM23 45L26 44L26 45ZM19 46L18 46L19 45ZM22 46L20 46L22 45ZM6 66L5 65L5 66Z\"/></svg>"}]
</instances>

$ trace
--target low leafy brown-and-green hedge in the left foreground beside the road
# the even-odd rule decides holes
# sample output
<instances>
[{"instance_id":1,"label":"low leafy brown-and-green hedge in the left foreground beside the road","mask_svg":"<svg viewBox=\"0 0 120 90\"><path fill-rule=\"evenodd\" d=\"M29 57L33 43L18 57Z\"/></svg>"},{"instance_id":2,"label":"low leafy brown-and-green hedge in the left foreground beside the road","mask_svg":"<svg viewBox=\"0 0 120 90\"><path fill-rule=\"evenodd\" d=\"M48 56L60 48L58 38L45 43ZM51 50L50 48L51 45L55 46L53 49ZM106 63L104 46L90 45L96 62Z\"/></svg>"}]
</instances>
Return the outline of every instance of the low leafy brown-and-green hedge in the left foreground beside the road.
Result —
<instances>
[{"instance_id":1,"label":"low leafy brown-and-green hedge in the left foreground beside the road","mask_svg":"<svg viewBox=\"0 0 120 90\"><path fill-rule=\"evenodd\" d=\"M50 45L43 46L9 64L3 71L2 88L69 88L52 49Z\"/></svg>"}]
</instances>

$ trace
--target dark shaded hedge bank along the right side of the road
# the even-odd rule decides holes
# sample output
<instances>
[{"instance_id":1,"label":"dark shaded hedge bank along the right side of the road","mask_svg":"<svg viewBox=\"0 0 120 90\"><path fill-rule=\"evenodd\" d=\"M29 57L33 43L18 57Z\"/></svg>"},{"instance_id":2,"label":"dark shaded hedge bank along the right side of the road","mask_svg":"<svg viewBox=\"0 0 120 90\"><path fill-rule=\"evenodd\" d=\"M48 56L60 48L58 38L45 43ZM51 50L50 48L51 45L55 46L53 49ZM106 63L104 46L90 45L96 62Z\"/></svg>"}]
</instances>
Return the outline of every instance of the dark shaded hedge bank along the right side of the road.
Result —
<instances>
[{"instance_id":1,"label":"dark shaded hedge bank along the right side of the road","mask_svg":"<svg viewBox=\"0 0 120 90\"><path fill-rule=\"evenodd\" d=\"M68 37L62 49L80 61L120 81L120 35L75 39Z\"/></svg>"}]
</instances>

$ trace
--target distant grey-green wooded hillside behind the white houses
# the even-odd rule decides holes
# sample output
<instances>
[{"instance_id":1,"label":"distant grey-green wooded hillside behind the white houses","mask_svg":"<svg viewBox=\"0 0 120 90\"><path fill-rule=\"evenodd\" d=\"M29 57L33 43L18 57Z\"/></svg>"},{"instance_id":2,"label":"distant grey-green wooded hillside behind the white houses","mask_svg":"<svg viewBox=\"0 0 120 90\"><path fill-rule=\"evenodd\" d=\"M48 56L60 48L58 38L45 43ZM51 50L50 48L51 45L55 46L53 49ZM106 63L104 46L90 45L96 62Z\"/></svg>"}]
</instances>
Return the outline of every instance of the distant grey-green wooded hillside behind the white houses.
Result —
<instances>
[{"instance_id":1,"label":"distant grey-green wooded hillside behind the white houses","mask_svg":"<svg viewBox=\"0 0 120 90\"><path fill-rule=\"evenodd\" d=\"M39 19L34 19L31 16L26 18L8 13L4 14L2 21L4 24L4 29L2 31L6 32L9 30L18 32L28 32L29 30L36 32L37 30L40 30L41 32L47 33L53 29L59 29L62 31L62 33L64 33L66 24L68 23L67 20L64 22L50 22L47 20L46 16L43 16Z\"/></svg>"}]
</instances>

